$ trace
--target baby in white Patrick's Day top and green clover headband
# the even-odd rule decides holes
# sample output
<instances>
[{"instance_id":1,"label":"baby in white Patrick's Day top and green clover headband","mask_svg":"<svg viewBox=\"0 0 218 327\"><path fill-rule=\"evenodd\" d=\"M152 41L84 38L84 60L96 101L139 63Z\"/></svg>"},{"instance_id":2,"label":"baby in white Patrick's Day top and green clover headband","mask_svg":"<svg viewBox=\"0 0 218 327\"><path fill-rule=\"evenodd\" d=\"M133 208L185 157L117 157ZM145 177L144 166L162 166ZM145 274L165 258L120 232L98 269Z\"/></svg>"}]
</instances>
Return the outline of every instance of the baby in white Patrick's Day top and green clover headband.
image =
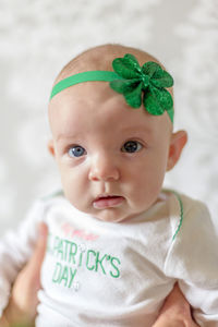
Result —
<instances>
[{"instance_id":1,"label":"baby in white Patrick's Day top and green clover headband","mask_svg":"<svg viewBox=\"0 0 218 327\"><path fill-rule=\"evenodd\" d=\"M154 57L119 45L89 49L63 68L49 102L48 145L63 192L38 201L2 240L2 310L45 221L37 327L149 327L175 281L199 326L218 326L209 214L162 190L186 143L184 131L173 132L172 84Z\"/></svg>"}]
</instances>

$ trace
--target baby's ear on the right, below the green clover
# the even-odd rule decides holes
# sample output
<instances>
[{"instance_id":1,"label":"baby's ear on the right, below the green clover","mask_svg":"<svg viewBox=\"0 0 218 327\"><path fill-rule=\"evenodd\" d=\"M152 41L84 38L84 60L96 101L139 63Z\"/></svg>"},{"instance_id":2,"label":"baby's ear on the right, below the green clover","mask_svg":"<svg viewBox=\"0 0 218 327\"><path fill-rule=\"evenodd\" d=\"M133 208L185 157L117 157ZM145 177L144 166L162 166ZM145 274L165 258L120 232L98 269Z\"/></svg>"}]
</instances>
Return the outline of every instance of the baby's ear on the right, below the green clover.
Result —
<instances>
[{"instance_id":1,"label":"baby's ear on the right, below the green clover","mask_svg":"<svg viewBox=\"0 0 218 327\"><path fill-rule=\"evenodd\" d=\"M172 169L174 165L178 162L182 149L187 142L187 133L185 131L179 131L177 133L172 133L170 147L169 147L169 156L167 164L167 171Z\"/></svg>"}]
</instances>

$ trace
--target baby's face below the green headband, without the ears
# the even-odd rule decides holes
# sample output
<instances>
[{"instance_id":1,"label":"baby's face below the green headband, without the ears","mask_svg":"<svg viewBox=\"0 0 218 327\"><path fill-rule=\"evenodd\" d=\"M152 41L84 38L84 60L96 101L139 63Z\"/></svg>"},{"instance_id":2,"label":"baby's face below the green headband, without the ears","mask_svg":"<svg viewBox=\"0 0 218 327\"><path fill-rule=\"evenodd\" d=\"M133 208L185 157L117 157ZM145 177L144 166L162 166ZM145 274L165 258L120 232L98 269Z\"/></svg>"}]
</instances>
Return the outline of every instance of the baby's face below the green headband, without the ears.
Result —
<instances>
[{"instance_id":1,"label":"baby's face below the green headband, without the ears","mask_svg":"<svg viewBox=\"0 0 218 327\"><path fill-rule=\"evenodd\" d=\"M168 114L133 109L108 83L70 87L50 102L53 150L65 197L77 209L118 222L158 198L168 165Z\"/></svg>"}]
</instances>

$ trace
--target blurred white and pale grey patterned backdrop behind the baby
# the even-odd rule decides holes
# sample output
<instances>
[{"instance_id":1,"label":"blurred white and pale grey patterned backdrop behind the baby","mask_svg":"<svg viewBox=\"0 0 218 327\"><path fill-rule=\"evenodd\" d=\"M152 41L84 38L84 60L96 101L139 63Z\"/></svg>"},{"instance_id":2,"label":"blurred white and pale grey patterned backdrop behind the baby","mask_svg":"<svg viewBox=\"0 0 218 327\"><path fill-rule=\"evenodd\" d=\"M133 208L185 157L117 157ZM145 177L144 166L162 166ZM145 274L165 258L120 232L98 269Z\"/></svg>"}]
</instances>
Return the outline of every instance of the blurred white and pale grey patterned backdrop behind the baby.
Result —
<instances>
[{"instance_id":1,"label":"blurred white and pale grey patterned backdrop behind the baby","mask_svg":"<svg viewBox=\"0 0 218 327\"><path fill-rule=\"evenodd\" d=\"M175 128L190 140L166 185L204 199L218 220L218 1L1 0L0 234L60 184L46 148L55 76L80 51L113 41L173 74Z\"/></svg>"}]
</instances>

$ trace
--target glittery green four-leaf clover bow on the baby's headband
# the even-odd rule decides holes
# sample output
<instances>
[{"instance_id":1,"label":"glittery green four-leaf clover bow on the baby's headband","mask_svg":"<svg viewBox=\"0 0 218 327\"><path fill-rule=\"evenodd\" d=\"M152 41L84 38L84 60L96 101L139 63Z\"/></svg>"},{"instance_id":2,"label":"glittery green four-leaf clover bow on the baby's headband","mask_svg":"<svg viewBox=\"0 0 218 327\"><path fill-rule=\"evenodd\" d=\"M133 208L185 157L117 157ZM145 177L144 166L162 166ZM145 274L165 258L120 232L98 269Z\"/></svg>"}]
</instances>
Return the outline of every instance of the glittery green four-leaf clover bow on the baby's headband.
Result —
<instances>
[{"instance_id":1,"label":"glittery green four-leaf clover bow on the baby's headband","mask_svg":"<svg viewBox=\"0 0 218 327\"><path fill-rule=\"evenodd\" d=\"M173 78L168 72L154 61L148 61L141 68L137 59L130 53L114 59L112 66L121 78L110 82L110 87L123 94L131 107L140 108L143 101L149 113L159 116L167 110L173 121L173 100L165 89L173 85Z\"/></svg>"}]
</instances>

